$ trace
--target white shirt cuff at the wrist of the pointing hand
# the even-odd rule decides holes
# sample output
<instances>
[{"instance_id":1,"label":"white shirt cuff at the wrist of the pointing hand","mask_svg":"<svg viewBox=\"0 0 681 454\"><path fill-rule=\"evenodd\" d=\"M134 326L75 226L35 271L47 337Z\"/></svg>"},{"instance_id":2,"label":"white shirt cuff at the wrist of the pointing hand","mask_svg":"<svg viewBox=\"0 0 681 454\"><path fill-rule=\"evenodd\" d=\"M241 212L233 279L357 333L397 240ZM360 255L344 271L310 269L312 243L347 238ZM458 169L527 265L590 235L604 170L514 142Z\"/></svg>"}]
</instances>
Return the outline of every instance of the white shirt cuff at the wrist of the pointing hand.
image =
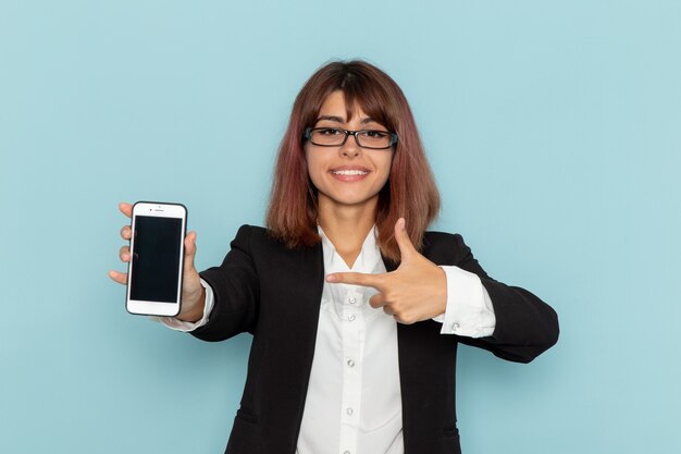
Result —
<instances>
[{"instance_id":1,"label":"white shirt cuff at the wrist of the pointing hand","mask_svg":"<svg viewBox=\"0 0 681 454\"><path fill-rule=\"evenodd\" d=\"M487 290L478 274L458 267L439 267L447 277L447 307L433 320L442 334L485 338L494 333L496 317Z\"/></svg>"}]
</instances>

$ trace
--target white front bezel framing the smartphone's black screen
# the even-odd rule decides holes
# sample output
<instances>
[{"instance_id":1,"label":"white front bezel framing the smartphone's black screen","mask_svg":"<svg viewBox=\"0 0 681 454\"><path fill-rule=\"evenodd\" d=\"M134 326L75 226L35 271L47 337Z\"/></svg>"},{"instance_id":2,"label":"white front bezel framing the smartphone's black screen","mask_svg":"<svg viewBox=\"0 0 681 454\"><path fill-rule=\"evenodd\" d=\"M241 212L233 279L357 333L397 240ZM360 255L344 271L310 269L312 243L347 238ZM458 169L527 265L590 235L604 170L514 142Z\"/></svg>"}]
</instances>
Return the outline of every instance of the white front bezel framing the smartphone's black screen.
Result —
<instances>
[{"instance_id":1,"label":"white front bezel framing the smartphone's black screen","mask_svg":"<svg viewBox=\"0 0 681 454\"><path fill-rule=\"evenodd\" d=\"M179 268L177 270L179 279L177 280L176 300L174 303L152 302L131 299L131 277L133 271L133 260L127 262L128 284L126 285L125 309L133 315L147 315L160 317L175 317L179 314L182 299L182 278L184 270L185 243L184 238L187 234L187 208L182 204L170 204L161 201L137 201L133 205L133 213L131 218L131 257L135 251L135 217L150 216L157 218L175 218L182 219L182 229L179 240Z\"/></svg>"}]
</instances>

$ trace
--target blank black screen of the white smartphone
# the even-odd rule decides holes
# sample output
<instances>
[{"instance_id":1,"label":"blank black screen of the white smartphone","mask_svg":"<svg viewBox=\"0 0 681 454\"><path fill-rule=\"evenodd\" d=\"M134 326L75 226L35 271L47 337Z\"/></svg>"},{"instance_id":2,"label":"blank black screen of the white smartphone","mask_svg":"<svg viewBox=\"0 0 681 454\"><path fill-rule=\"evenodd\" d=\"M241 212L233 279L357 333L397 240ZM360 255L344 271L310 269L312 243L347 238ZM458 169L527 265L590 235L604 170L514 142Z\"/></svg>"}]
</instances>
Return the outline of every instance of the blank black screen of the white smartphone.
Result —
<instances>
[{"instance_id":1,"label":"blank black screen of the white smartphone","mask_svg":"<svg viewBox=\"0 0 681 454\"><path fill-rule=\"evenodd\" d=\"M135 217L131 299L176 303L182 219Z\"/></svg>"}]
</instances>

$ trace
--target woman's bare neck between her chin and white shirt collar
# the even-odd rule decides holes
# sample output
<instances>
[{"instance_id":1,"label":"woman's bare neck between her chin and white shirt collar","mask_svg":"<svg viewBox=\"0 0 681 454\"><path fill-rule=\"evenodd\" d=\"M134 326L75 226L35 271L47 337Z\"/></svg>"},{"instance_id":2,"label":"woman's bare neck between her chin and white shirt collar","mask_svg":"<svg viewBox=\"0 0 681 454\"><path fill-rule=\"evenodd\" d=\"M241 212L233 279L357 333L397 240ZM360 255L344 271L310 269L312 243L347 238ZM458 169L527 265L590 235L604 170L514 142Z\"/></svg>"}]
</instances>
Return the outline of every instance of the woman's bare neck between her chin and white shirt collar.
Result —
<instances>
[{"instance_id":1,"label":"woman's bare neck between her chin and white shirt collar","mask_svg":"<svg viewBox=\"0 0 681 454\"><path fill-rule=\"evenodd\" d=\"M324 195L319 195L318 222L336 251L350 268L376 221L377 201L376 196L364 204L339 206Z\"/></svg>"}]
</instances>

